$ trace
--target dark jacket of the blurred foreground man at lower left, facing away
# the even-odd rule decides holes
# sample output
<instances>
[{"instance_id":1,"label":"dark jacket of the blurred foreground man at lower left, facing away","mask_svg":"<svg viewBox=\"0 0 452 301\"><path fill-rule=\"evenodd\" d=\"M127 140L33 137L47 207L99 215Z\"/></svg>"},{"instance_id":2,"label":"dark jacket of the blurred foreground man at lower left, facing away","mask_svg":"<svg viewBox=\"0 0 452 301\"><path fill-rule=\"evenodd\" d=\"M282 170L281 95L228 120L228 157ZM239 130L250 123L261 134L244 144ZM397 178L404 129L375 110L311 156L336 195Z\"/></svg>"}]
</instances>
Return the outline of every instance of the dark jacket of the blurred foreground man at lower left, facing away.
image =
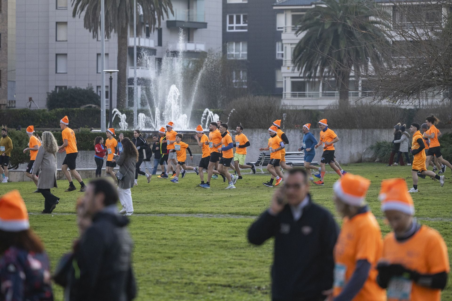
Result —
<instances>
[{"instance_id":1,"label":"dark jacket of the blurred foreground man at lower left, facing away","mask_svg":"<svg viewBox=\"0 0 452 301\"><path fill-rule=\"evenodd\" d=\"M128 218L97 213L75 253L80 279L77 301L129 301L136 296L132 271L133 242Z\"/></svg>"}]
</instances>

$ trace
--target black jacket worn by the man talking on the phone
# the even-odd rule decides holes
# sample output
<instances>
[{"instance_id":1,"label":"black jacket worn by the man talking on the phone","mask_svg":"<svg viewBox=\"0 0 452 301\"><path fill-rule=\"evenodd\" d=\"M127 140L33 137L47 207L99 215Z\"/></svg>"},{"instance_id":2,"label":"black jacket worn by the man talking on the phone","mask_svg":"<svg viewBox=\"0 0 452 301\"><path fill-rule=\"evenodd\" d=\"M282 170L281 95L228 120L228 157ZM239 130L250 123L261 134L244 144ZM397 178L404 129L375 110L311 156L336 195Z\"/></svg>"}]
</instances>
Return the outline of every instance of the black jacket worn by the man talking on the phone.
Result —
<instances>
[{"instance_id":1,"label":"black jacket worn by the man talking on the phone","mask_svg":"<svg viewBox=\"0 0 452 301\"><path fill-rule=\"evenodd\" d=\"M309 197L298 221L286 205L277 216L265 211L248 230L248 240L255 245L275 237L271 272L275 300L311 300L333 287L339 227L331 213Z\"/></svg>"}]
</instances>

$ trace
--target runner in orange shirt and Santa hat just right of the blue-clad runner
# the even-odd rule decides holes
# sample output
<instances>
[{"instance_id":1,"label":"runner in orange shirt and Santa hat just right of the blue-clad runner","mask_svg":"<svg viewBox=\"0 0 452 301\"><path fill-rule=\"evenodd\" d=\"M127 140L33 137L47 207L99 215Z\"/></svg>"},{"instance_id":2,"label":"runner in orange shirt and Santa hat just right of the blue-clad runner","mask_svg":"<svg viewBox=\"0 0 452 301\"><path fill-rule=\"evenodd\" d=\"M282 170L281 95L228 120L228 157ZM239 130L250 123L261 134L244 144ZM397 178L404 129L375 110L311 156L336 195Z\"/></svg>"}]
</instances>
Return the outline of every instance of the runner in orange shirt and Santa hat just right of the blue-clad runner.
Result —
<instances>
[{"instance_id":1,"label":"runner in orange shirt and Santa hat just right of the blue-clad runner","mask_svg":"<svg viewBox=\"0 0 452 301\"><path fill-rule=\"evenodd\" d=\"M336 166L334 162L334 143L339 141L338 136L334 133L333 130L328 128L328 123L326 119L322 119L319 121L320 128L320 140L319 143L315 145L315 148L318 148L320 145L323 146L323 154L322 160L320 161L320 180L314 182L315 185L323 186L323 177L325 176L325 164L330 164L330 167L333 168L334 171L339 176L343 176L339 170L339 167Z\"/></svg>"}]
</instances>

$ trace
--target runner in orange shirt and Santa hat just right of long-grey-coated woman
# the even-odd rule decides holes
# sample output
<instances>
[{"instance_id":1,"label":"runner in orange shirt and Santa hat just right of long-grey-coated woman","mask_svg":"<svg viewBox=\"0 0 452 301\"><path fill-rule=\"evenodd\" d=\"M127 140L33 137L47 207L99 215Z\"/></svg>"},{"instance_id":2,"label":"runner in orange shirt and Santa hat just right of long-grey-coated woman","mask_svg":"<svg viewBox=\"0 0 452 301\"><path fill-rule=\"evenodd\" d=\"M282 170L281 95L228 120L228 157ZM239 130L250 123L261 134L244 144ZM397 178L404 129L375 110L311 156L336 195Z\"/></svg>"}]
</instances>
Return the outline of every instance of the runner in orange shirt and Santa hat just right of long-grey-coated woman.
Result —
<instances>
[{"instance_id":1,"label":"runner in orange shirt and Santa hat just right of long-grey-coated woman","mask_svg":"<svg viewBox=\"0 0 452 301\"><path fill-rule=\"evenodd\" d=\"M69 127L69 119L67 116L64 116L60 120L60 128L62 130L61 136L63 137L63 144L58 147L58 153L64 153L66 151L66 157L64 158L63 164L61 165L61 171L63 171L66 176L67 181L69 181L69 188L65 190L65 192L76 190L74 183L72 183L72 176L74 176L75 180L80 183L79 192L85 192L86 185L83 183L82 177L79 175L77 170L75 169L75 159L77 159L77 139L75 139L74 131ZM69 171L68 171L69 168Z\"/></svg>"}]
</instances>

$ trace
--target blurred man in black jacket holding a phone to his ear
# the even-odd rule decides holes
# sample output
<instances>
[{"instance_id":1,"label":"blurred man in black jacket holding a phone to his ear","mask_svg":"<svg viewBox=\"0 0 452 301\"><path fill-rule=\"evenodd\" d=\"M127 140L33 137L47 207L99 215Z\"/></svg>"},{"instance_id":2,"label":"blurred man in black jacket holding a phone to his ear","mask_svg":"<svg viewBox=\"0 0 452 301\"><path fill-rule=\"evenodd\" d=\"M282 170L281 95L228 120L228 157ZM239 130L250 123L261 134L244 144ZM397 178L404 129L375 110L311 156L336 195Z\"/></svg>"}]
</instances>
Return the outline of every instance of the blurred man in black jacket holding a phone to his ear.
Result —
<instances>
[{"instance_id":1,"label":"blurred man in black jacket holding a phone to his ear","mask_svg":"<svg viewBox=\"0 0 452 301\"><path fill-rule=\"evenodd\" d=\"M268 208L248 229L254 245L275 237L273 301L323 301L333 287L333 249L339 228L312 202L306 171L294 168Z\"/></svg>"}]
</instances>

